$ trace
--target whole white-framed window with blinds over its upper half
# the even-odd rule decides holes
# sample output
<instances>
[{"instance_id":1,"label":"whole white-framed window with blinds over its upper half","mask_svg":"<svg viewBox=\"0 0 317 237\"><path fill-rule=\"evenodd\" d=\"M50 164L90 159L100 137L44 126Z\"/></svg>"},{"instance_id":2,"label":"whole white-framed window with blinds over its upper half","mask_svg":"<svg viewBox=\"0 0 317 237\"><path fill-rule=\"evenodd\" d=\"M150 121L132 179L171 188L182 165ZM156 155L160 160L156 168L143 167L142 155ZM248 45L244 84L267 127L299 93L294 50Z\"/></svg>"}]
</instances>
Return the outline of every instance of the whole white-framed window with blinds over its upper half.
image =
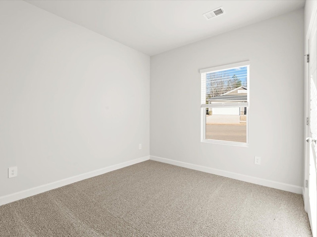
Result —
<instances>
[{"instance_id":1,"label":"whole white-framed window with blinds over its upper half","mask_svg":"<svg viewBox=\"0 0 317 237\"><path fill-rule=\"evenodd\" d=\"M202 142L248 145L250 62L200 70Z\"/></svg>"}]
</instances>

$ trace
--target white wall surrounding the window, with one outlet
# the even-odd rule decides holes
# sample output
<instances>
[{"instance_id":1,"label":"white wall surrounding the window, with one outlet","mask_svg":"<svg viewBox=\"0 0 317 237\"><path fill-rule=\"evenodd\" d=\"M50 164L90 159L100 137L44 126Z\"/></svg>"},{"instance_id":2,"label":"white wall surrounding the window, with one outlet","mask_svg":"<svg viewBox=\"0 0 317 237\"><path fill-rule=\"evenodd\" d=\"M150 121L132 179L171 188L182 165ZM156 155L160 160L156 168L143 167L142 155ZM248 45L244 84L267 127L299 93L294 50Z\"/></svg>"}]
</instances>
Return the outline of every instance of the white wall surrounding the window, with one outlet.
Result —
<instances>
[{"instance_id":1,"label":"white wall surrounding the window, with one outlet","mask_svg":"<svg viewBox=\"0 0 317 237\"><path fill-rule=\"evenodd\" d=\"M151 57L150 155L303 186L303 13ZM201 143L199 70L245 60L249 147Z\"/></svg>"}]
</instances>

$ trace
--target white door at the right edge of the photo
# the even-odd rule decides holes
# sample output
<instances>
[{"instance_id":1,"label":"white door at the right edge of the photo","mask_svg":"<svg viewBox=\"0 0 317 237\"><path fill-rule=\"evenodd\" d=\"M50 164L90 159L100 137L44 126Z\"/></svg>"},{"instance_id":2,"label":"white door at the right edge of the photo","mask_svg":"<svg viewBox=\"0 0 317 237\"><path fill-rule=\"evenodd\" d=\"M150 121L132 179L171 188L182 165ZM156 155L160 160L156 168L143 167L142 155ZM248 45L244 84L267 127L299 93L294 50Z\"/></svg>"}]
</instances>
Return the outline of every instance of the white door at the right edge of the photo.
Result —
<instances>
[{"instance_id":1,"label":"white door at the right edge of the photo","mask_svg":"<svg viewBox=\"0 0 317 237\"><path fill-rule=\"evenodd\" d=\"M305 197L308 198L306 202L306 210L309 216L313 236L317 237L317 179L316 179L316 154L317 154L317 22L314 19L312 30L309 34L309 82L310 87L310 123L307 135L311 137L307 144L307 169L306 177L308 179L307 193Z\"/></svg>"}]
</instances>

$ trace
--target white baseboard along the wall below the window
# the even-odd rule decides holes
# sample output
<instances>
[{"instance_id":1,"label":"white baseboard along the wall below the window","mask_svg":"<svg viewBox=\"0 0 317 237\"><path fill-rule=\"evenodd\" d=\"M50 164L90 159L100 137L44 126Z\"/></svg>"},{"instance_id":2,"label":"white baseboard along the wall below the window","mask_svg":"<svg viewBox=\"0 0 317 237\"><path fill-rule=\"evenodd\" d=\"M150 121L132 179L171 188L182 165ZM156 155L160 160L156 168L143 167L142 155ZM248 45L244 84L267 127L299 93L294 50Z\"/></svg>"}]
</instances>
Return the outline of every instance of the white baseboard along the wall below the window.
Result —
<instances>
[{"instance_id":1,"label":"white baseboard along the wall below the window","mask_svg":"<svg viewBox=\"0 0 317 237\"><path fill-rule=\"evenodd\" d=\"M220 175L220 176L224 176L224 177L228 177L232 179L237 179L237 180L241 180L241 181L245 181L245 182L249 182L253 184L258 184L258 185L262 185L262 186L266 186L266 187L270 187L274 189L284 190L291 193L303 194L303 187L301 186L295 186L295 185L280 183L280 182L276 182L272 180L261 179L261 178L257 178L253 176L233 173L233 172L229 172L229 171L225 171L221 169L214 169L214 168L210 168L206 166L186 163L186 162L177 161L173 159L166 159L166 158L155 157L155 156L150 156L150 159L167 163L167 164L181 166L184 168L195 169L195 170L203 171L206 173L211 173L211 174L216 174L216 175Z\"/></svg>"}]
</instances>

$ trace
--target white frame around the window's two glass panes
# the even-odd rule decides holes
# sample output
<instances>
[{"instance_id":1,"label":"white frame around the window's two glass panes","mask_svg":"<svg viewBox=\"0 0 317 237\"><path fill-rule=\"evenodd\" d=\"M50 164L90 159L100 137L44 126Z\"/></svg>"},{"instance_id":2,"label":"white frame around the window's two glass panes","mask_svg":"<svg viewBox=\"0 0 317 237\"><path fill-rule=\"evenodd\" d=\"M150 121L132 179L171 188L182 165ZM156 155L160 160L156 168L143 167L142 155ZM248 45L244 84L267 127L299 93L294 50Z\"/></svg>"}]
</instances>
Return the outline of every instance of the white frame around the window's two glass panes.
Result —
<instances>
[{"instance_id":1,"label":"white frame around the window's two glass panes","mask_svg":"<svg viewBox=\"0 0 317 237\"><path fill-rule=\"evenodd\" d=\"M236 103L217 103L211 106L211 104L201 104L201 142L204 143L213 143L213 144L222 144L222 145L232 145L232 146L240 146L240 147L248 147L249 146L249 111L250 111L250 61L243 61L243 62L238 62L238 63L232 63L232 64L226 64L226 65L221 65L221 66L216 66L216 67L211 67L211 68L206 68L200 70L201 74L201 92L203 91L203 86L206 86L206 78L203 78L202 75L210 72L216 72L216 71L223 71L223 70L229 70L237 67L247 67L247 98L248 102L236 102ZM202 94L202 93L201 93ZM206 95L202 95L206 96ZM202 100L204 100L202 98ZM206 97L205 97L206 101ZM216 107L222 107L222 108L236 108L236 107L246 107L247 108L247 121L246 121L246 126L247 126L247 131L246 131L246 136L247 136L247 141L246 142L233 142L233 141L223 141L223 140L212 140L212 139L206 139L206 114L207 114L207 108L216 108Z\"/></svg>"}]
</instances>

